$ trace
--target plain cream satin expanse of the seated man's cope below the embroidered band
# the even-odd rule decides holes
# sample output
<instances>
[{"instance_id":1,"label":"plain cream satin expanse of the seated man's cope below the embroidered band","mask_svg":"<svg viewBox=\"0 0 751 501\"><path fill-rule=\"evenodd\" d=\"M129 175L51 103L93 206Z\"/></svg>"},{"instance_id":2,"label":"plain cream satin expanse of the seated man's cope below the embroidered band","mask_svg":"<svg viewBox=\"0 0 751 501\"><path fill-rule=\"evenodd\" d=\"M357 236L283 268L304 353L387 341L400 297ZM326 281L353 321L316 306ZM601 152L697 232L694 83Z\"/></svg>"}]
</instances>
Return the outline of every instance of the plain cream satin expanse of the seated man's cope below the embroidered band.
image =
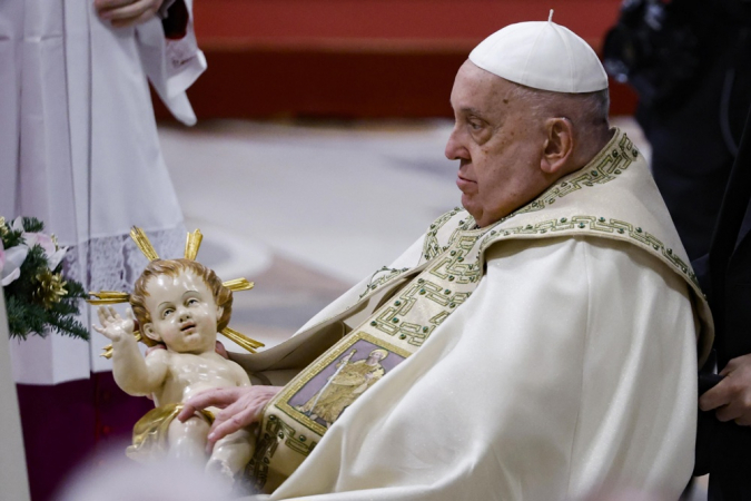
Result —
<instances>
[{"instance_id":1,"label":"plain cream satin expanse of the seated man's cope below the embroidered band","mask_svg":"<svg viewBox=\"0 0 751 501\"><path fill-rule=\"evenodd\" d=\"M678 499L693 462L685 284L605 239L491 248L471 298L270 499Z\"/></svg>"}]
</instances>

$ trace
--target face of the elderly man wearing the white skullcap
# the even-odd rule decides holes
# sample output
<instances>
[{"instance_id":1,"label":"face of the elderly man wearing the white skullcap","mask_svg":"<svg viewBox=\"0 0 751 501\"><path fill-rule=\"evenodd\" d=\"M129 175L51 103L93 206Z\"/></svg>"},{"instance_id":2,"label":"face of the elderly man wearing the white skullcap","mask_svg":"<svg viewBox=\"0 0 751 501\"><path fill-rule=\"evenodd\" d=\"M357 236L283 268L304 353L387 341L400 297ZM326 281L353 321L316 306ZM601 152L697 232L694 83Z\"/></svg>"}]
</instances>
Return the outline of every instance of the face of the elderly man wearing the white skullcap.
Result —
<instances>
[{"instance_id":1,"label":"face of the elderly man wearing the white skullcap","mask_svg":"<svg viewBox=\"0 0 751 501\"><path fill-rule=\"evenodd\" d=\"M462 205L483 227L547 187L540 170L545 132L514 85L466 61L454 81L455 125L446 157L460 160Z\"/></svg>"}]
</instances>

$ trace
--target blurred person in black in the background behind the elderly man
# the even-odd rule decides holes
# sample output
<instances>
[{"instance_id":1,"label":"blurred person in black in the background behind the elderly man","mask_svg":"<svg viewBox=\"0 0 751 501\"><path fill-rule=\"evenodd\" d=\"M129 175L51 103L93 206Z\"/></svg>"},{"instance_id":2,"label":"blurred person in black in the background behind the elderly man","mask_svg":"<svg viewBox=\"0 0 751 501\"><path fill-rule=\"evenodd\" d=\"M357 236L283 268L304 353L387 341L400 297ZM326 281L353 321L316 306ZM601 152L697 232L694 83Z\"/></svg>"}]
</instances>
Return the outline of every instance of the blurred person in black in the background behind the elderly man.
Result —
<instances>
[{"instance_id":1,"label":"blurred person in black in the background behind the elderly man","mask_svg":"<svg viewBox=\"0 0 751 501\"><path fill-rule=\"evenodd\" d=\"M696 259L709 252L751 105L751 1L625 0L604 59L639 94L654 179Z\"/></svg>"}]
</instances>

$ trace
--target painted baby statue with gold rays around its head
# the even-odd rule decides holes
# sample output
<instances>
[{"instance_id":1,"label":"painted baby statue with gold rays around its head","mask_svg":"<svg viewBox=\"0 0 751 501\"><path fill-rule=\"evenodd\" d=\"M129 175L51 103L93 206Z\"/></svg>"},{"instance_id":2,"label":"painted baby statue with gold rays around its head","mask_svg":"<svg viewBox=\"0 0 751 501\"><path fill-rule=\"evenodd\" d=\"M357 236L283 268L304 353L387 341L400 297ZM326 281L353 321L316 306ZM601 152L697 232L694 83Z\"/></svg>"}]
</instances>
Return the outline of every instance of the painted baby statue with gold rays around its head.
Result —
<instances>
[{"instance_id":1,"label":"painted baby statue with gold rays around its head","mask_svg":"<svg viewBox=\"0 0 751 501\"><path fill-rule=\"evenodd\" d=\"M246 289L251 286L245 283ZM122 293L93 295L107 294ZM185 422L175 419L184 402L204 390L250 385L243 367L216 352L217 333L231 331L226 328L231 315L231 288L191 258L152 258L128 298L132 310L125 318L111 306L99 306L101 326L93 327L112 342L117 384L130 395L148 395L155 401L156 409L136 423L127 455L145 462L162 458L206 462L208 472L231 482L250 460L255 434L247 429L230 433L218 440L208 455L207 435L218 410L207 409ZM115 302L111 297L92 301ZM137 326L146 336L144 341L165 350L152 348L144 356L138 348Z\"/></svg>"}]
</instances>

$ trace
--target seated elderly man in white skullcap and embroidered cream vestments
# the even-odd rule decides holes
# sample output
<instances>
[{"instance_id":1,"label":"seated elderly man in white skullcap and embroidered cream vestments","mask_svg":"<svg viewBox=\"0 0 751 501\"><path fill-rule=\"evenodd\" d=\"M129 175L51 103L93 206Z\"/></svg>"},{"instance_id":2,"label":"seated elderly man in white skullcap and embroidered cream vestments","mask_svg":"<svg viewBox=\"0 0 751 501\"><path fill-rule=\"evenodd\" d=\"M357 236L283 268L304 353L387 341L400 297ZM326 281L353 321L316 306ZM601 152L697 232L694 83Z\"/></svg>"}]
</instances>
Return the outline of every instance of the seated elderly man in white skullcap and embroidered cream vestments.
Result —
<instances>
[{"instance_id":1,"label":"seated elderly man in white skullcap and embroidered cream vestments","mask_svg":"<svg viewBox=\"0 0 751 501\"><path fill-rule=\"evenodd\" d=\"M211 440L259 422L248 473L274 500L676 499L711 321L641 154L607 126L596 55L551 20L512 24L451 102L464 209L237 357L283 389L215 391L181 418L226 406ZM385 374L357 372L333 424L304 412L374 350Z\"/></svg>"}]
</instances>

